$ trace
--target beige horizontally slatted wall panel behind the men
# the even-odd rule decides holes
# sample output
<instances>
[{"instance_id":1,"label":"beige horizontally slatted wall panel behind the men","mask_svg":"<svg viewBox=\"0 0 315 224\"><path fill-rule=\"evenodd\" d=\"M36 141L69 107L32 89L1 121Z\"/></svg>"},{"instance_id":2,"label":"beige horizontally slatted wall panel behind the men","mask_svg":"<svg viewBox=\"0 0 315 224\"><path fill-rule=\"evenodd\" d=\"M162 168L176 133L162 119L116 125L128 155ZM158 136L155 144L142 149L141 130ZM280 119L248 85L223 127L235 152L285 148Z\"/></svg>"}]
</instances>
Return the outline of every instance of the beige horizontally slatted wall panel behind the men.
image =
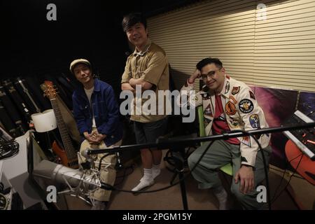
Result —
<instances>
[{"instance_id":1,"label":"beige horizontally slatted wall panel behind the men","mask_svg":"<svg viewBox=\"0 0 315 224\"><path fill-rule=\"evenodd\" d=\"M265 3L267 20L256 18ZM250 85L315 91L315 1L202 1L148 19L176 87L204 57ZM195 83L199 89L199 83Z\"/></svg>"}]
</instances>

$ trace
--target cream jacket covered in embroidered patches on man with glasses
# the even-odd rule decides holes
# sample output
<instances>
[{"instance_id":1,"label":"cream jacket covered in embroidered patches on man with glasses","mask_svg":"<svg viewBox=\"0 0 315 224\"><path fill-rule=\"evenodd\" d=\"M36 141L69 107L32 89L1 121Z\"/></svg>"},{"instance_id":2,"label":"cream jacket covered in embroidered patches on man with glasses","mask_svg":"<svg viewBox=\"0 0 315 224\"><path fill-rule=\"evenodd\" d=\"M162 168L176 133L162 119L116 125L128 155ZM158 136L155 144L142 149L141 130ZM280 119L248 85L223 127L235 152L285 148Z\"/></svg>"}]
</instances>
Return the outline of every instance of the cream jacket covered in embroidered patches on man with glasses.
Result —
<instances>
[{"instance_id":1,"label":"cream jacket covered in embroidered patches on man with glasses","mask_svg":"<svg viewBox=\"0 0 315 224\"><path fill-rule=\"evenodd\" d=\"M257 130L268 127L265 115L258 105L255 94L248 85L225 75L225 81L221 91L221 100L225 112L225 118L230 130ZM193 90L193 84L186 82L182 90ZM204 86L196 96L191 97L190 102L195 106L203 106L204 109L204 127L207 135L211 135L211 127L214 121L216 111L216 102L214 92L210 92L207 86ZM255 167L255 158L258 152L258 144L253 137L239 137L241 164ZM262 148L269 145L270 134L258 136Z\"/></svg>"}]
</instances>

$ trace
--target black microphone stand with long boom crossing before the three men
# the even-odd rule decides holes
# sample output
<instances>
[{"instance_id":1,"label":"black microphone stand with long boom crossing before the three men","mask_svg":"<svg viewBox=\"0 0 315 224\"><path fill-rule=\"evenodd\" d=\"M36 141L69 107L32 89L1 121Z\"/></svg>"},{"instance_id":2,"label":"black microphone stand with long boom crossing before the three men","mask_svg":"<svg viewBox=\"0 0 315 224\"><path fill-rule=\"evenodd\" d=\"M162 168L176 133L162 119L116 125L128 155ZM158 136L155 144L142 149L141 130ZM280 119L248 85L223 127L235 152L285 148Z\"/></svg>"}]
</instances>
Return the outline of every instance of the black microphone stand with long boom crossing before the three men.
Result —
<instances>
[{"instance_id":1,"label":"black microphone stand with long boom crossing before the three men","mask_svg":"<svg viewBox=\"0 0 315 224\"><path fill-rule=\"evenodd\" d=\"M99 153L119 153L120 151L136 151L143 148L158 148L158 149L165 149L165 148L172 148L174 146L181 147L181 146L195 146L196 144L199 144L203 141L215 141L220 139L230 139L235 137L244 137L244 136L250 136L250 135L256 135L256 134L268 134L273 132L284 132L284 131L290 131L290 130L300 130L300 129L306 129L309 127L315 127L315 122L312 123L304 123L304 124L298 124L298 125L290 125L285 127L271 127L271 128L263 128L259 130L249 130L246 131L246 133L242 131L235 130L230 133L224 133L224 134L218 134L218 135L212 135L207 137L196 137L196 138L185 138L185 139L179 139L179 137L171 138L171 139L157 139L155 143L148 143L148 144L134 144L129 146L114 146L113 148L104 148L104 149L94 149L94 150L87 150L87 155L94 155ZM179 172L179 178L183 178L183 163L179 162L178 158L175 160L176 163L176 169L178 169ZM183 181L181 181L183 182ZM183 199L183 207L184 209L188 209L187 205L187 197L186 197L186 188L185 184L181 184L181 195Z\"/></svg>"}]
</instances>

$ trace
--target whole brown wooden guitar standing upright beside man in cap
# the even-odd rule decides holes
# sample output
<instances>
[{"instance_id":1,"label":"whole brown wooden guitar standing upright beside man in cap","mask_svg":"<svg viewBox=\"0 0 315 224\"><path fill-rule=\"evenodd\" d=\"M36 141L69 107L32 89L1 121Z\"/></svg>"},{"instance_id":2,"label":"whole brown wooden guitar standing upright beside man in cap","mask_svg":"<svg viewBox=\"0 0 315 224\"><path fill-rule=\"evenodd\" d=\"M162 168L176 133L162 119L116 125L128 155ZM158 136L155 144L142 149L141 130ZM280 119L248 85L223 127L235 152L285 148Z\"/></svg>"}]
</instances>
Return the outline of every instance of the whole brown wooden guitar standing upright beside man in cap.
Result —
<instances>
[{"instance_id":1,"label":"whole brown wooden guitar standing upright beside man in cap","mask_svg":"<svg viewBox=\"0 0 315 224\"><path fill-rule=\"evenodd\" d=\"M64 149L62 149L56 141L52 144L52 151L59 156L62 165L66 167L70 167L72 169L78 169L78 156L76 150L73 147L68 128L64 123L62 118L62 113L59 110L59 106L57 104L56 96L57 92L52 85L51 81L45 80L45 82L41 85L42 90L45 92L45 96L50 99L50 103L52 109L55 112L55 117L57 120L57 126L62 137L62 144L64 144Z\"/></svg>"}]
</instances>

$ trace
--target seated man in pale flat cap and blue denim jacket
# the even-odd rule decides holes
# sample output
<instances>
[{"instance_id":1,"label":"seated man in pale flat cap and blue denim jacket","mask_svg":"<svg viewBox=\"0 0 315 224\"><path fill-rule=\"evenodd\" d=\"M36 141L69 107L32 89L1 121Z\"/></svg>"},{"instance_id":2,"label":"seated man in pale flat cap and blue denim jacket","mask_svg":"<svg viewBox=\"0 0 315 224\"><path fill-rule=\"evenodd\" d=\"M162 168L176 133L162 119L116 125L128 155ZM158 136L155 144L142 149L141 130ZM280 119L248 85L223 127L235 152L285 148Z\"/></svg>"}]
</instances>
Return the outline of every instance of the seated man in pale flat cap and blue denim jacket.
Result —
<instances>
[{"instance_id":1,"label":"seated man in pale flat cap and blue denim jacket","mask_svg":"<svg viewBox=\"0 0 315 224\"><path fill-rule=\"evenodd\" d=\"M94 78L92 66L87 59L75 59L70 64L70 71L82 83L78 90L73 92L73 116L76 119L78 131L84 137L78 156L80 164L86 162L86 148L111 148L120 146L123 138L123 126L119 120L119 108L113 87L108 83ZM95 165L104 154L95 155ZM102 160L100 179L113 186L116 179L116 156L107 155ZM108 166L109 165L109 166ZM110 190L97 189L91 193L94 199L92 209L105 209Z\"/></svg>"}]
</instances>

